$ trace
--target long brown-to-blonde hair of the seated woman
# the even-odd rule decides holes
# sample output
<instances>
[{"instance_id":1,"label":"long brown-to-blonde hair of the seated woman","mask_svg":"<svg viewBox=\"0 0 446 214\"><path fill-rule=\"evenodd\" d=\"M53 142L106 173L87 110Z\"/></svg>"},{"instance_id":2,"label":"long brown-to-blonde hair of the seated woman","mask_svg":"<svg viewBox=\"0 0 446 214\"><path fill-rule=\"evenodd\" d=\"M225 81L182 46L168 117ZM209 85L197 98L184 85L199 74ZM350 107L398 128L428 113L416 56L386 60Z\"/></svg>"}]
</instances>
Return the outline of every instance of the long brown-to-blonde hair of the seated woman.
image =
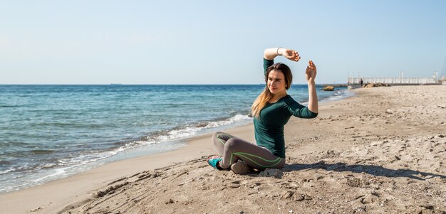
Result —
<instances>
[{"instance_id":1,"label":"long brown-to-blonde hair of the seated woman","mask_svg":"<svg viewBox=\"0 0 446 214\"><path fill-rule=\"evenodd\" d=\"M283 63L276 63L274 65L269 66L266 69L265 73L265 82L268 84L268 75L271 72L271 70L280 71L281 73L284 73L285 76L285 83L286 83L286 90L291 87L291 82L293 82L293 74L291 73L291 69ZM260 93L259 97L254 100L254 103L251 105L251 114L253 117L259 118L261 109L263 109L266 106L266 103L271 100L273 97L273 94L268 89L268 85L265 86L263 92Z\"/></svg>"}]
</instances>

